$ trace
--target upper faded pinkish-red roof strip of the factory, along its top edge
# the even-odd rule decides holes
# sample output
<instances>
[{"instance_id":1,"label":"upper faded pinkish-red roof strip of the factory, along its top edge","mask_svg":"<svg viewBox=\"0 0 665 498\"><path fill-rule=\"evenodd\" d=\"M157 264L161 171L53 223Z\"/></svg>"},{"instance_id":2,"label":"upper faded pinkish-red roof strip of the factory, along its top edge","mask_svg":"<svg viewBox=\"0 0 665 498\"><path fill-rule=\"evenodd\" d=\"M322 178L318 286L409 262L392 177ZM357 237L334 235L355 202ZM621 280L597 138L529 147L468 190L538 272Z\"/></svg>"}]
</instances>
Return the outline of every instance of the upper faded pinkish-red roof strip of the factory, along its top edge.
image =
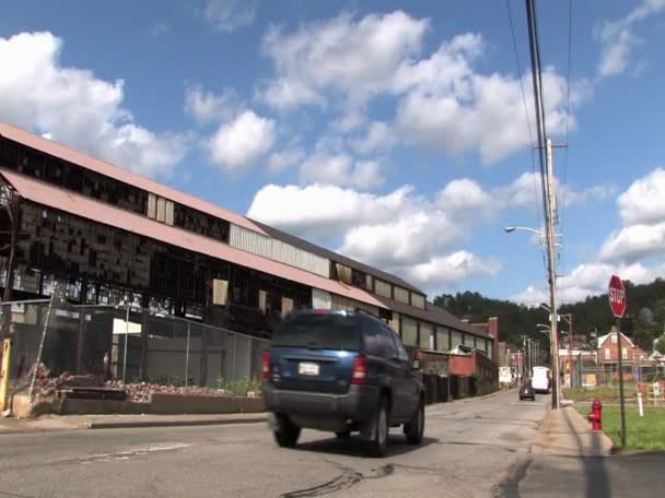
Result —
<instances>
[{"instance_id":1,"label":"upper faded pinkish-red roof strip of the factory, along its top edge","mask_svg":"<svg viewBox=\"0 0 665 498\"><path fill-rule=\"evenodd\" d=\"M35 135L12 124L0 121L0 135L37 151L42 151L45 154L59 157L60 159L77 164L92 171L96 171L101 175L115 178L116 180L122 181L132 187L143 189L148 192L170 199L179 204L208 213L222 220L226 220L242 227L258 232L259 234L267 235L256 223L246 218L242 214L234 213L233 211L225 210L211 202L207 202L195 198L194 195L180 192L179 190L172 189L151 180L148 177L137 175L136 173L131 173L110 163L91 157L74 149L70 149L43 137Z\"/></svg>"}]
</instances>

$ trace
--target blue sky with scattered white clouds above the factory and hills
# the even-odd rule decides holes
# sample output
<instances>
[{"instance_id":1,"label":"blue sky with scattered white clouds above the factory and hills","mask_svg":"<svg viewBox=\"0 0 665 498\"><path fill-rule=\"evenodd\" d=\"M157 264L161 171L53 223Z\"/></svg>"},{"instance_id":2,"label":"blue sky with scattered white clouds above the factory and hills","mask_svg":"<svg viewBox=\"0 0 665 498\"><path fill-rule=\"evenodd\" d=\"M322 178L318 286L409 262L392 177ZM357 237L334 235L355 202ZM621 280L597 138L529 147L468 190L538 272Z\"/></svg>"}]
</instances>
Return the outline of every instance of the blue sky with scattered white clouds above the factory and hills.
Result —
<instances>
[{"instance_id":1,"label":"blue sky with scattered white clouds above the factory and hills","mask_svg":"<svg viewBox=\"0 0 665 498\"><path fill-rule=\"evenodd\" d=\"M522 73L505 1L135 3L3 2L0 119L432 294L544 297L501 229L542 223L522 1ZM573 1L570 92L568 2L538 3L570 301L665 273L665 0Z\"/></svg>"}]
</instances>

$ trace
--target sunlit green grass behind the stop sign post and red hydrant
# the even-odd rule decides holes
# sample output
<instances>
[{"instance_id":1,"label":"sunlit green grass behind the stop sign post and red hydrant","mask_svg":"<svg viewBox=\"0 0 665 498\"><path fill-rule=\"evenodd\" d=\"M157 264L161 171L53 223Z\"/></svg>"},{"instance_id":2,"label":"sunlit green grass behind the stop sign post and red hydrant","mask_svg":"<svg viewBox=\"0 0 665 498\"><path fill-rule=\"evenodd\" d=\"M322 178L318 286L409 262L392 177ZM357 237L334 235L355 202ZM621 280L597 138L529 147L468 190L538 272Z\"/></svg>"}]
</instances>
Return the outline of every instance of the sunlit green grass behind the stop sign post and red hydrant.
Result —
<instances>
[{"instance_id":1,"label":"sunlit green grass behind the stop sign post and red hydrant","mask_svg":"<svg viewBox=\"0 0 665 498\"><path fill-rule=\"evenodd\" d=\"M578 407L586 418L588 408ZM622 453L665 451L665 407L644 407L641 418L637 406L626 407L626 448L621 448L621 414L619 406L603 407L603 431Z\"/></svg>"}]
</instances>

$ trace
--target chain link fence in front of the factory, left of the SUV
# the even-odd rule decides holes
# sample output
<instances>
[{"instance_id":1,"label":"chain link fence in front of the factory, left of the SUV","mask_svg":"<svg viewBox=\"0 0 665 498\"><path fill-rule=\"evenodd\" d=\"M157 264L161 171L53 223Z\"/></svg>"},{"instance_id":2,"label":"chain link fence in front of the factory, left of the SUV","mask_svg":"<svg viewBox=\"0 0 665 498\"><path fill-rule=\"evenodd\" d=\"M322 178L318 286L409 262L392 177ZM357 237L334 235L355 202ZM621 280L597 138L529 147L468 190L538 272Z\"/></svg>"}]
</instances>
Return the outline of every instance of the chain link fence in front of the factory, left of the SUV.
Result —
<instances>
[{"instance_id":1,"label":"chain link fence in front of the factory, left of the SUV","mask_svg":"<svg viewBox=\"0 0 665 498\"><path fill-rule=\"evenodd\" d=\"M136 306L74 306L54 298L0 305L12 341L9 392L49 379L222 388L261 378L269 341Z\"/></svg>"}]
</instances>

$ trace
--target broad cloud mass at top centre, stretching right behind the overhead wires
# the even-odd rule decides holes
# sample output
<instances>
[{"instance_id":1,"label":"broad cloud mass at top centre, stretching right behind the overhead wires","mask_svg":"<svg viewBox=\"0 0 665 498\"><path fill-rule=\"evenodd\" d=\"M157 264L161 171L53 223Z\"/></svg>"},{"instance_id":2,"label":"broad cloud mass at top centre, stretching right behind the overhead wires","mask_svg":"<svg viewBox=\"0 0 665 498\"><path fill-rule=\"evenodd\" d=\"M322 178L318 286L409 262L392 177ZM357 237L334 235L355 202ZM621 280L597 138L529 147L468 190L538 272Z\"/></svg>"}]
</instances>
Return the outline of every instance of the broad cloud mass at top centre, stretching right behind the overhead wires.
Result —
<instances>
[{"instance_id":1,"label":"broad cloud mass at top centre, stretching right behind the overhead wires","mask_svg":"<svg viewBox=\"0 0 665 498\"><path fill-rule=\"evenodd\" d=\"M346 133L366 119L362 112L374 97L395 105L393 122L376 122L353 143L360 154L396 141L451 155L478 152L495 163L529 144L521 83L530 100L530 74L481 73L486 52L482 36L453 37L429 57L420 57L429 20L396 11L383 15L338 17L303 24L293 33L271 27L264 52L275 75L257 90L258 98L276 108L317 105L341 109L332 128ZM521 81L522 79L522 81ZM567 80L548 68L542 75L546 119L550 134L563 132L574 116L565 111ZM592 86L574 82L573 108Z\"/></svg>"}]
</instances>

